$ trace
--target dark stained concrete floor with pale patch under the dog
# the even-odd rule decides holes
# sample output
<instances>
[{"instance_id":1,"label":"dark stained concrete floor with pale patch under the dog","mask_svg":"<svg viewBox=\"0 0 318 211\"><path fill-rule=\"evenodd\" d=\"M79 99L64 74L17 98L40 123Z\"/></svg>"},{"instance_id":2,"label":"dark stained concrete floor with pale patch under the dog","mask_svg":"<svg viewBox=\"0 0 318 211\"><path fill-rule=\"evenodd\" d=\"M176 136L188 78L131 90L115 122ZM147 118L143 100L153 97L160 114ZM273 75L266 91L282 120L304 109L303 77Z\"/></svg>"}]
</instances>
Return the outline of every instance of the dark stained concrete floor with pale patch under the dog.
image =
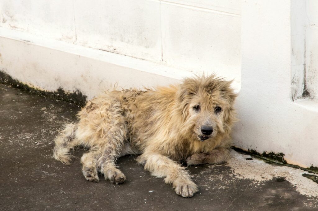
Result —
<instances>
[{"instance_id":1,"label":"dark stained concrete floor with pale patch under the dog","mask_svg":"<svg viewBox=\"0 0 318 211\"><path fill-rule=\"evenodd\" d=\"M0 210L318 210L318 184L302 170L235 151L227 164L189 168L200 188L192 198L176 195L135 156L118 161L125 183L88 182L79 162L84 149L69 166L52 158L57 129L78 110L0 84Z\"/></svg>"}]
</instances>

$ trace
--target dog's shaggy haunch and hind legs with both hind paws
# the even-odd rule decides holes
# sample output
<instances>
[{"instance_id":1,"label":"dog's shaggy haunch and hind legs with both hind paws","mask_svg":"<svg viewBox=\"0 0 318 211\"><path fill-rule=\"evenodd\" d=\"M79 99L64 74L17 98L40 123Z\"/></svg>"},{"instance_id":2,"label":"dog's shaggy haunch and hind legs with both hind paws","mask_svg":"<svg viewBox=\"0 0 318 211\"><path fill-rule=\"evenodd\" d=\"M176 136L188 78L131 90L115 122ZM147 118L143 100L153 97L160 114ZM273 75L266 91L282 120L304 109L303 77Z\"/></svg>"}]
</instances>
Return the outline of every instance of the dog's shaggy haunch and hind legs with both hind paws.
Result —
<instances>
[{"instance_id":1,"label":"dog's shaggy haunch and hind legs with both hind paws","mask_svg":"<svg viewBox=\"0 0 318 211\"><path fill-rule=\"evenodd\" d=\"M91 151L81 159L85 178L97 181L97 172L101 172L112 183L124 182L126 177L116 168L115 162L128 139L128 125L120 99L116 96L95 99L82 109L79 118L76 135Z\"/></svg>"}]
</instances>

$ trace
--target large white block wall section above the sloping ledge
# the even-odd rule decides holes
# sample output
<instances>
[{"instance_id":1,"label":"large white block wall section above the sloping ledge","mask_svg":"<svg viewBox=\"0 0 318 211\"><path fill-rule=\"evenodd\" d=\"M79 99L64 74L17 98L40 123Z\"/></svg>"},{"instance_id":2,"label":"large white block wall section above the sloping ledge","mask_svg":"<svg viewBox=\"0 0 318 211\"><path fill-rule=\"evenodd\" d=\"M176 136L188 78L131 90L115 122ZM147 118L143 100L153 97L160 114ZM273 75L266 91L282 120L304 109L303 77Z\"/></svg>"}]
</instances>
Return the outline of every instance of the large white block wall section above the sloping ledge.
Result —
<instances>
[{"instance_id":1,"label":"large white block wall section above the sloping ledge","mask_svg":"<svg viewBox=\"0 0 318 211\"><path fill-rule=\"evenodd\" d=\"M240 81L240 1L0 1L0 27Z\"/></svg>"}]
</instances>

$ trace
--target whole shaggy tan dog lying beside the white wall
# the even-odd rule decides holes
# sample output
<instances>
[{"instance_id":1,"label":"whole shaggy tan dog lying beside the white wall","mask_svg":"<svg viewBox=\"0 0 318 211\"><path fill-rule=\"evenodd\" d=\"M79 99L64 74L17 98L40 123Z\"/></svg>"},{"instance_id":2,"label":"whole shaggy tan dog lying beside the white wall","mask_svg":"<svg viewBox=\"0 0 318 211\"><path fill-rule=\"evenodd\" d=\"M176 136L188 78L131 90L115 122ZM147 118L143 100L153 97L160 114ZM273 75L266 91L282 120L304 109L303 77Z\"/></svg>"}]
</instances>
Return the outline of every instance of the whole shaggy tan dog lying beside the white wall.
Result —
<instances>
[{"instance_id":1,"label":"whole shaggy tan dog lying beside the white wall","mask_svg":"<svg viewBox=\"0 0 318 211\"><path fill-rule=\"evenodd\" d=\"M230 132L235 121L236 94L231 81L212 76L186 78L183 83L156 90L113 91L94 98L55 139L54 157L69 164L77 145L83 154L83 175L98 182L98 172L111 183L125 175L116 159L140 154L138 163L153 176L164 177L176 193L191 197L198 191L187 165L222 163L229 159Z\"/></svg>"}]
</instances>

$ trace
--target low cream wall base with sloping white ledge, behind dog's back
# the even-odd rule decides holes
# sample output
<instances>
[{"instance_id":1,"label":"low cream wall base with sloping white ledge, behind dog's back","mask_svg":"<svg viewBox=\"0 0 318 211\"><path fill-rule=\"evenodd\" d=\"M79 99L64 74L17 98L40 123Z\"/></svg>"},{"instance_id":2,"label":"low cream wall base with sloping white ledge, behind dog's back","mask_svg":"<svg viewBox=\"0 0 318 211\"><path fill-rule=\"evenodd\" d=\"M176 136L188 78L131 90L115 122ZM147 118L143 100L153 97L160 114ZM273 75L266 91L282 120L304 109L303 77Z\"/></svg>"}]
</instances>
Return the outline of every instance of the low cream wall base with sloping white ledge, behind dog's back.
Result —
<instances>
[{"instance_id":1,"label":"low cream wall base with sloping white ledge, behind dog's back","mask_svg":"<svg viewBox=\"0 0 318 211\"><path fill-rule=\"evenodd\" d=\"M0 29L0 34L0 70L41 90L79 90L91 99L114 86L168 85L191 74L120 54L39 39L24 32ZM151 71L145 71L148 68Z\"/></svg>"}]
</instances>

